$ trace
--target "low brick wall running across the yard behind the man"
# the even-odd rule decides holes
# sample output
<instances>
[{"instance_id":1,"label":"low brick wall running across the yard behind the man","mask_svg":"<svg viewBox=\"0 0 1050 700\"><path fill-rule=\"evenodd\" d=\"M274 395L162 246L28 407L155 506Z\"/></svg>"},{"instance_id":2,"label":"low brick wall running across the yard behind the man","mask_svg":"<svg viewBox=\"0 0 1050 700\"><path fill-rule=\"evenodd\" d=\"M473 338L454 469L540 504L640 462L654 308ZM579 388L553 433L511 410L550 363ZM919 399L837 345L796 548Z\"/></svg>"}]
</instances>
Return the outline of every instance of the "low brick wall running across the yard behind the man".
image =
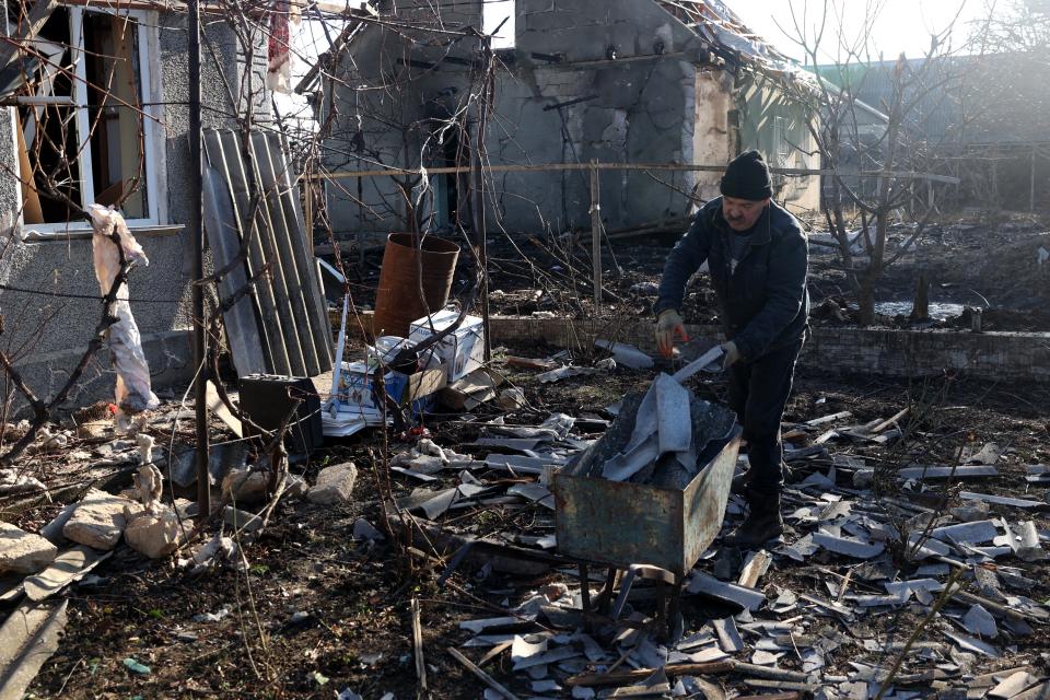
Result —
<instances>
[{"instance_id":1,"label":"low brick wall running across the yard behind the man","mask_svg":"<svg viewBox=\"0 0 1050 700\"><path fill-rule=\"evenodd\" d=\"M716 326L687 326L690 337L721 339ZM655 352L650 319L614 326L602 320L492 318L493 345L549 342L592 346L595 338L619 340ZM921 377L945 370L983 380L1050 382L1050 332L960 332L818 326L802 362L828 370L894 377Z\"/></svg>"}]
</instances>

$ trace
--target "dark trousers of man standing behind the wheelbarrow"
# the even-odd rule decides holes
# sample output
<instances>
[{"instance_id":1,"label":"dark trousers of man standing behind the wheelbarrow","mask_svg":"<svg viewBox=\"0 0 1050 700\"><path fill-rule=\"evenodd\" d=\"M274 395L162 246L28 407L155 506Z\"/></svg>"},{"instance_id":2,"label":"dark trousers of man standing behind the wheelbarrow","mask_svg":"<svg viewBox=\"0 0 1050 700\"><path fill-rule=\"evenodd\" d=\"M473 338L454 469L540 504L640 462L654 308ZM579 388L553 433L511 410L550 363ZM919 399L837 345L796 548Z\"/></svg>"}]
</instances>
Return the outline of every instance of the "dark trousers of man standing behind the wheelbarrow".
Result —
<instances>
[{"instance_id":1,"label":"dark trousers of man standing behind the wheelbarrow","mask_svg":"<svg viewBox=\"0 0 1050 700\"><path fill-rule=\"evenodd\" d=\"M730 368L730 407L744 425L747 459L754 478L748 490L756 495L778 494L783 486L783 448L780 419L791 394L795 361L802 340Z\"/></svg>"}]
</instances>

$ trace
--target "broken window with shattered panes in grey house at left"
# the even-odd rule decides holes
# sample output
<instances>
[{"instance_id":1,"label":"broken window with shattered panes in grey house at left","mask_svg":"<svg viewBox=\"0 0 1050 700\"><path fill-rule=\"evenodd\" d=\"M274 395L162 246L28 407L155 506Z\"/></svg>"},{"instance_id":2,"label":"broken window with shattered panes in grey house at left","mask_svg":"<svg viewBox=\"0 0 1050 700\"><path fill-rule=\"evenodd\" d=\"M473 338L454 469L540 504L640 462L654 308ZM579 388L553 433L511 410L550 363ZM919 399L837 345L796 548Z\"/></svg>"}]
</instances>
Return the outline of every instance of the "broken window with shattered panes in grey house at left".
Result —
<instances>
[{"instance_id":1,"label":"broken window with shattered panes in grey house at left","mask_svg":"<svg viewBox=\"0 0 1050 700\"><path fill-rule=\"evenodd\" d=\"M92 202L131 223L155 223L141 18L58 8L31 51L35 68L18 98L23 223L47 231L83 221Z\"/></svg>"}]
</instances>

